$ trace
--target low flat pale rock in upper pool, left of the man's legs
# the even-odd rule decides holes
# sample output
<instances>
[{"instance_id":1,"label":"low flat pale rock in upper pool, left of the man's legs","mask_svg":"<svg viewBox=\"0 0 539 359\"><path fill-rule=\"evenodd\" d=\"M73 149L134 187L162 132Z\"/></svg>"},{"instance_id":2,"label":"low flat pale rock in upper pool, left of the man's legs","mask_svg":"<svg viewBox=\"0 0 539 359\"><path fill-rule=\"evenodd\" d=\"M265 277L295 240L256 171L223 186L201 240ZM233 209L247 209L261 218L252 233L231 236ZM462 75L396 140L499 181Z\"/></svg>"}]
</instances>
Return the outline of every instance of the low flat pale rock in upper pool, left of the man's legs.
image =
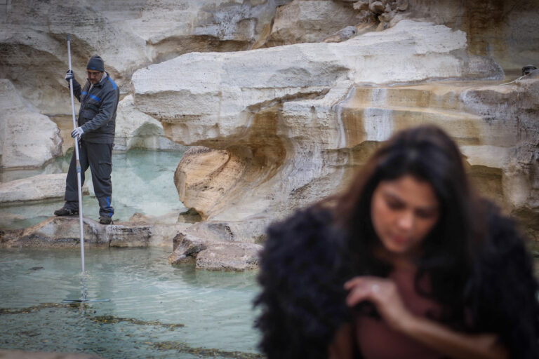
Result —
<instances>
[{"instance_id":1,"label":"low flat pale rock in upper pool, left of the man's legs","mask_svg":"<svg viewBox=\"0 0 539 359\"><path fill-rule=\"evenodd\" d=\"M65 177L65 173L56 173L0 183L0 203L63 198L65 194ZM88 194L88 187L82 187L82 192L83 194Z\"/></svg>"}]
</instances>

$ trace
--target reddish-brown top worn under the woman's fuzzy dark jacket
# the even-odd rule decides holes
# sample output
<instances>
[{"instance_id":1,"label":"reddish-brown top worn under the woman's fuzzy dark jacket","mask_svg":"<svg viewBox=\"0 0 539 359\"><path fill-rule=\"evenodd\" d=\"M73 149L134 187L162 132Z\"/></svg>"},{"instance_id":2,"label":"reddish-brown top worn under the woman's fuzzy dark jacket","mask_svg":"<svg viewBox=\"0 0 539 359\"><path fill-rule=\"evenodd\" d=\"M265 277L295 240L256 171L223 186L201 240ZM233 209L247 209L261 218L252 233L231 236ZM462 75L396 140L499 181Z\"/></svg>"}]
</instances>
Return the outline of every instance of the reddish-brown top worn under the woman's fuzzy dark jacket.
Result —
<instances>
[{"instance_id":1,"label":"reddish-brown top worn under the woman's fuzzy dark jacket","mask_svg":"<svg viewBox=\"0 0 539 359\"><path fill-rule=\"evenodd\" d=\"M427 313L435 318L441 307L431 299L420 296L414 288L414 268L395 269L390 278L397 285L404 306L416 316L426 317ZM421 285L427 283L421 283ZM383 320L368 316L356 319L356 340L365 359L440 359L443 355L407 337L406 334L392 330Z\"/></svg>"}]
</instances>

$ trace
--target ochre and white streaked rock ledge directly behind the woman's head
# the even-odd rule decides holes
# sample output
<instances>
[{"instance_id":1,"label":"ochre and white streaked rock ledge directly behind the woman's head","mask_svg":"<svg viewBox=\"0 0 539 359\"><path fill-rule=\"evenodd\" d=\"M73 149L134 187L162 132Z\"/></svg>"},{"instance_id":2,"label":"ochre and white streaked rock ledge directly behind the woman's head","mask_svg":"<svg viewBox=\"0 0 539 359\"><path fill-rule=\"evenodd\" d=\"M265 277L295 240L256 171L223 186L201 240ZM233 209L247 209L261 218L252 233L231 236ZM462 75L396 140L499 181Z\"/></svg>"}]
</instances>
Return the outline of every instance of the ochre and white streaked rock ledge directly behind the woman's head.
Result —
<instances>
[{"instance_id":1,"label":"ochre and white streaked rock ledge directly behind the woman's head","mask_svg":"<svg viewBox=\"0 0 539 359\"><path fill-rule=\"evenodd\" d=\"M340 103L338 118L351 149L387 140L409 126L441 126L460 145L481 193L539 238L538 103L535 79L509 85L357 86Z\"/></svg>"}]
</instances>

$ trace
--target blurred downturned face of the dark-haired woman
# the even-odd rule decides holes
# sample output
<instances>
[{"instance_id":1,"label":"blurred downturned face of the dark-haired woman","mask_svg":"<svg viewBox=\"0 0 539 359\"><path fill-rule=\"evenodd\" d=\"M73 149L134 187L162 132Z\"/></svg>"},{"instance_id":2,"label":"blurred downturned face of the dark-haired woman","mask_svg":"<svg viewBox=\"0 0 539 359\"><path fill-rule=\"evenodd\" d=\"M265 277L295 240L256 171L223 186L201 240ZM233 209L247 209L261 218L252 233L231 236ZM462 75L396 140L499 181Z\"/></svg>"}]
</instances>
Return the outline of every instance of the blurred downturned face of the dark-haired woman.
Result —
<instances>
[{"instance_id":1,"label":"blurred downturned face of the dark-haired woman","mask_svg":"<svg viewBox=\"0 0 539 359\"><path fill-rule=\"evenodd\" d=\"M430 183L404 175L378 184L371 218L385 250L393 255L414 255L438 222L439 201Z\"/></svg>"}]
</instances>

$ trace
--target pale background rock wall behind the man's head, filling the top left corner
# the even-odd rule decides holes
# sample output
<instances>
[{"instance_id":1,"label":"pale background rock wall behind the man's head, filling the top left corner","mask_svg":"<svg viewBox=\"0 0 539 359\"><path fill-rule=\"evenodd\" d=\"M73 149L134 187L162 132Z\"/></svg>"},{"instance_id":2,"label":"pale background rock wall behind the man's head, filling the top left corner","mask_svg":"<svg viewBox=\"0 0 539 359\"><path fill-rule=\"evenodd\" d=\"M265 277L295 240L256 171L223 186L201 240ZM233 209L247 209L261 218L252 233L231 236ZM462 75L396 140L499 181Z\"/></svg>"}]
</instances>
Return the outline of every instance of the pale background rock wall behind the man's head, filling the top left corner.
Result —
<instances>
[{"instance_id":1,"label":"pale background rock wall behind the man's head, filling the top left corner","mask_svg":"<svg viewBox=\"0 0 539 359\"><path fill-rule=\"evenodd\" d=\"M192 51L246 50L290 0L9 1L0 11L0 77L44 114L71 114L65 35L79 82L99 54L122 93L151 62ZM36 90L39 89L39 90Z\"/></svg>"}]
</instances>

